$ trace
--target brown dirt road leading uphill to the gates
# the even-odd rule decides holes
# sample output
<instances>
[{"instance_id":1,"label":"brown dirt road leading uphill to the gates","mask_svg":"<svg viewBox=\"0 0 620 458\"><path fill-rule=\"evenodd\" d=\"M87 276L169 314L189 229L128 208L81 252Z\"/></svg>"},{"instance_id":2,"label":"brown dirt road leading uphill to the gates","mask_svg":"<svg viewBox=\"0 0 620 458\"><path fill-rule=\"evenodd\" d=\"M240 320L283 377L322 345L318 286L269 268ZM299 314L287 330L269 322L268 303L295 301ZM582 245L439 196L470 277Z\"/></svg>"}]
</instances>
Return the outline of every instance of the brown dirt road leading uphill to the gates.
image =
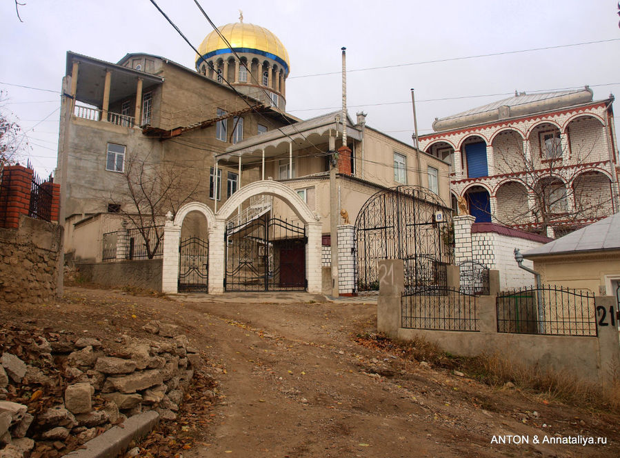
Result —
<instances>
[{"instance_id":1,"label":"brown dirt road leading uphill to the gates","mask_svg":"<svg viewBox=\"0 0 620 458\"><path fill-rule=\"evenodd\" d=\"M374 330L375 306L234 299L68 288L60 308L32 306L18 317L93 335L139 334L150 319L182 326L219 380L214 421L184 458L620 456L618 415L489 388L357 344L355 335ZM557 435L607 444L543 443ZM529 444L501 444L515 440Z\"/></svg>"}]
</instances>

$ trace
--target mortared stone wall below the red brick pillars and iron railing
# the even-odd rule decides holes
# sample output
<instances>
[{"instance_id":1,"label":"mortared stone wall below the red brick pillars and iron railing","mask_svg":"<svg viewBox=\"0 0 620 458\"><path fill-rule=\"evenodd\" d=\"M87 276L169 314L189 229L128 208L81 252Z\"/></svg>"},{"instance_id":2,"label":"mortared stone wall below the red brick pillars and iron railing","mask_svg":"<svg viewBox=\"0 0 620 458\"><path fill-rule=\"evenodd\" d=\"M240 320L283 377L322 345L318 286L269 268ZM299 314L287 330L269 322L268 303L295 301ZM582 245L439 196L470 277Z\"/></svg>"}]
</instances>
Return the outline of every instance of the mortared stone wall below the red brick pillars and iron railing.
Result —
<instances>
[{"instance_id":1,"label":"mortared stone wall below the red brick pillars and iron railing","mask_svg":"<svg viewBox=\"0 0 620 458\"><path fill-rule=\"evenodd\" d=\"M54 299L63 228L22 216L15 229L0 228L0 302Z\"/></svg>"}]
</instances>

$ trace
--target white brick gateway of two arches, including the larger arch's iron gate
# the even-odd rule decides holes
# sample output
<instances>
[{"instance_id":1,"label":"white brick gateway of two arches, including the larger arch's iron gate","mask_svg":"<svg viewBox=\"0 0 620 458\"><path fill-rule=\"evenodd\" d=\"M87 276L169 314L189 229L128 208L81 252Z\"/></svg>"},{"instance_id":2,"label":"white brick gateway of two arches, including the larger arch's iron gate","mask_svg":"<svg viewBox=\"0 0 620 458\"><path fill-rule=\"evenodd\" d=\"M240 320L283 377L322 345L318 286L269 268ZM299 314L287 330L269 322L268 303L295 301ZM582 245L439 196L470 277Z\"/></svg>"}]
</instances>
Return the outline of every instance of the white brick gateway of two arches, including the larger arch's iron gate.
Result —
<instances>
[{"instance_id":1,"label":"white brick gateway of two arches, including the larger arch's iron gate","mask_svg":"<svg viewBox=\"0 0 620 458\"><path fill-rule=\"evenodd\" d=\"M301 225L257 215L227 227L226 221L235 210L257 195L269 195L285 202ZM321 292L321 223L296 192L271 180L255 181L239 189L216 215L203 203L192 202L179 209L174 221L172 217L166 221L164 292L178 292L181 224L192 211L202 212L208 222L208 292L298 288ZM286 265L293 257L302 256L305 268L301 268L301 272L294 270L299 263L282 270L282 260ZM277 262L279 268L276 268Z\"/></svg>"}]
</instances>

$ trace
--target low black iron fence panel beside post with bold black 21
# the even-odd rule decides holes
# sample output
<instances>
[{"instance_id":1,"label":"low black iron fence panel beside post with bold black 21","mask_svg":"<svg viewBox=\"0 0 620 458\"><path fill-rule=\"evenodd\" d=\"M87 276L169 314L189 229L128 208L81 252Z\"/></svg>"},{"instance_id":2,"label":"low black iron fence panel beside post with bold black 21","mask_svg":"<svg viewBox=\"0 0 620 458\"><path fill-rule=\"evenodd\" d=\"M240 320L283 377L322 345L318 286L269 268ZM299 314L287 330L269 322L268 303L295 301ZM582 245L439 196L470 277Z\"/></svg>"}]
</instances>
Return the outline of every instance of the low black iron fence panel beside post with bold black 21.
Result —
<instances>
[{"instance_id":1,"label":"low black iron fence panel beside post with bold black 21","mask_svg":"<svg viewBox=\"0 0 620 458\"><path fill-rule=\"evenodd\" d=\"M596 336L594 293L559 286L497 296L497 332Z\"/></svg>"}]
</instances>

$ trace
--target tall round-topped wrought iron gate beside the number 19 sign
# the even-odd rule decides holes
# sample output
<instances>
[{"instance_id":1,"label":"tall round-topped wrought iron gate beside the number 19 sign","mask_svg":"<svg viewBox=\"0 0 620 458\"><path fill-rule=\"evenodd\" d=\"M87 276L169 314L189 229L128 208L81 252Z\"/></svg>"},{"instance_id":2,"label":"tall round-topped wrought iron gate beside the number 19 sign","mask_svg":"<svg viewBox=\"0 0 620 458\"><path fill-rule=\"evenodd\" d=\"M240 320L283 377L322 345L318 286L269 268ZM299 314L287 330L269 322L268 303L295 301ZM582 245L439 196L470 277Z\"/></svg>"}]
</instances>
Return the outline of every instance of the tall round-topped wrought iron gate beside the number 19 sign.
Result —
<instances>
[{"instance_id":1,"label":"tall round-topped wrought iron gate beside the number 19 sign","mask_svg":"<svg viewBox=\"0 0 620 458\"><path fill-rule=\"evenodd\" d=\"M452 209L434 192L397 186L372 195L355 221L357 287L378 290L381 259L403 259L405 289L414 293L447 285L454 259Z\"/></svg>"}]
</instances>

